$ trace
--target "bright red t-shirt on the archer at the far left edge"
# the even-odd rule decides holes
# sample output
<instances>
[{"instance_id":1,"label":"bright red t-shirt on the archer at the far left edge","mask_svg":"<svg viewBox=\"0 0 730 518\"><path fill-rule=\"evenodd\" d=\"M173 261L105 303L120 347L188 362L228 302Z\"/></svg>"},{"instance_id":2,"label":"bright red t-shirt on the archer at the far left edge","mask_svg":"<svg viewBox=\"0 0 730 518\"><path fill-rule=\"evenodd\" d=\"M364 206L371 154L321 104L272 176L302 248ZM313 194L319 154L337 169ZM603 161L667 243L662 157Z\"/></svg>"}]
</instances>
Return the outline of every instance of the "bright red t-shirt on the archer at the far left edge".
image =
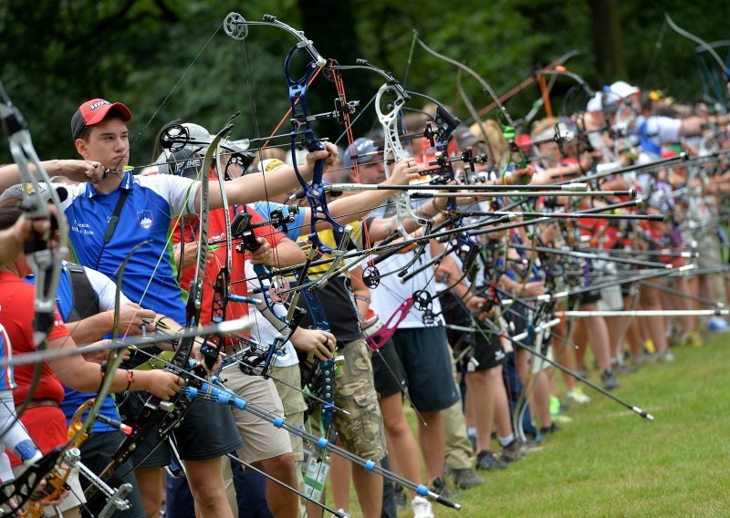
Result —
<instances>
[{"instance_id":1,"label":"bright red t-shirt on the archer at the far left edge","mask_svg":"<svg viewBox=\"0 0 730 518\"><path fill-rule=\"evenodd\" d=\"M35 297L36 292L33 285L26 283L17 275L0 270L0 324L5 327L15 357L36 350L33 343ZM68 337L68 330L63 325L63 320L56 309L55 323L48 340L64 337ZM13 399L17 406L26 399L34 370L34 365L19 365L14 369L17 387L13 390ZM53 399L60 403L63 397L64 390L61 382L44 364L40 381L33 393L33 399ZM60 409L54 407L28 409L21 416L21 422L44 453L66 443L68 427L66 416ZM12 455L8 456L11 465L19 465L20 462Z\"/></svg>"}]
</instances>

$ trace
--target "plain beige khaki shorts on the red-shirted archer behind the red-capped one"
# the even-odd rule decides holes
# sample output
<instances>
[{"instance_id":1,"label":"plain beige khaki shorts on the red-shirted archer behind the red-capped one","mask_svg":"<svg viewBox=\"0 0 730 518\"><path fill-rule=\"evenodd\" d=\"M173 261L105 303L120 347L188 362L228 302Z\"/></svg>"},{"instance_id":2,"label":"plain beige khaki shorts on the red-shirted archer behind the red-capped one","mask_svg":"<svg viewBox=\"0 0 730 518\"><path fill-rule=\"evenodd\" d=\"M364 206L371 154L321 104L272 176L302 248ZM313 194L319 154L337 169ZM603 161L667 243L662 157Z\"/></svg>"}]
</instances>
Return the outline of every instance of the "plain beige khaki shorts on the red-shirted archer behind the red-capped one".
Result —
<instances>
[{"instance_id":1,"label":"plain beige khaki shorts on the red-shirted archer behind the red-capped one","mask_svg":"<svg viewBox=\"0 0 730 518\"><path fill-rule=\"evenodd\" d=\"M265 409L272 417L284 415L284 405L271 379L246 376L238 368L226 369L225 378L225 385L239 397L257 408ZM237 451L242 461L265 461L292 452L287 430L276 428L269 421L246 410L234 407L233 411L235 425L244 440L243 448Z\"/></svg>"}]
</instances>

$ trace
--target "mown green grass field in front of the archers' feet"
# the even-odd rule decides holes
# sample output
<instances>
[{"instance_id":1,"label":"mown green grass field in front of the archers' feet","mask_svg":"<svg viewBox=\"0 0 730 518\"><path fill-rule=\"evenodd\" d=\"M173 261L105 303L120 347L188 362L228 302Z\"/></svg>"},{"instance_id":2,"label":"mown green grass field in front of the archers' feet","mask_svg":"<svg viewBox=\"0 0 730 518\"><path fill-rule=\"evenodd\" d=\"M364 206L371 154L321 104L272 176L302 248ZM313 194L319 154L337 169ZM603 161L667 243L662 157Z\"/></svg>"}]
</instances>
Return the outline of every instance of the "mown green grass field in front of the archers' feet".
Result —
<instances>
[{"instance_id":1,"label":"mown green grass field in front of the archers' feet","mask_svg":"<svg viewBox=\"0 0 730 518\"><path fill-rule=\"evenodd\" d=\"M615 393L653 422L585 387L593 400L573 404L544 448L482 472L483 486L454 497L460 512L434 505L436 516L730 516L728 341L676 347L672 364L620 377Z\"/></svg>"}]
</instances>

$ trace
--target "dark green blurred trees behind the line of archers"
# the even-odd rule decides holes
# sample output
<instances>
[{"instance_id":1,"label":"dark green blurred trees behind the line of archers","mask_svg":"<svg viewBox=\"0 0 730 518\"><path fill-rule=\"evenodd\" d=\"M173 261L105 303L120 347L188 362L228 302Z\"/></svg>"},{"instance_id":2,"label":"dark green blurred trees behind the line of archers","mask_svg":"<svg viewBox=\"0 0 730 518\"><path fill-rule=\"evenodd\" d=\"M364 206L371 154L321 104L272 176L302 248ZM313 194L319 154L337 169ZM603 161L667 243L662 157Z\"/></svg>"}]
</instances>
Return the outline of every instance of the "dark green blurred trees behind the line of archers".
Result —
<instances>
[{"instance_id":1,"label":"dark green blurred trees behind the line of archers","mask_svg":"<svg viewBox=\"0 0 730 518\"><path fill-rule=\"evenodd\" d=\"M414 29L430 47L473 67L498 93L576 49L580 54L568 69L593 88L623 78L692 100L704 93L694 44L666 26L663 15L706 41L724 38L730 19L730 5L709 0L2 0L0 78L26 115L43 159L75 156L70 118L94 97L130 106L131 163L151 161L157 132L173 119L215 132L241 111L235 139L268 135L288 109L283 61L294 39L276 28L251 27L243 44L235 42L221 27L230 11L249 20L278 16L341 64L363 57L401 80L407 71L409 89L439 98L464 119L456 69L420 47L409 63ZM725 58L727 47L718 50ZM477 108L491 102L471 78L462 83ZM345 76L349 99L363 105L380 84L368 72ZM556 111L572 86L568 79L556 82ZM308 94L310 112L331 110L334 96L333 84L318 78ZM528 87L507 109L518 119L538 97L537 87ZM373 118L369 109L356 133L368 131ZM341 132L322 128L318 135L332 139ZM279 133L289 129L285 120ZM10 160L6 146L0 153L0 161Z\"/></svg>"}]
</instances>

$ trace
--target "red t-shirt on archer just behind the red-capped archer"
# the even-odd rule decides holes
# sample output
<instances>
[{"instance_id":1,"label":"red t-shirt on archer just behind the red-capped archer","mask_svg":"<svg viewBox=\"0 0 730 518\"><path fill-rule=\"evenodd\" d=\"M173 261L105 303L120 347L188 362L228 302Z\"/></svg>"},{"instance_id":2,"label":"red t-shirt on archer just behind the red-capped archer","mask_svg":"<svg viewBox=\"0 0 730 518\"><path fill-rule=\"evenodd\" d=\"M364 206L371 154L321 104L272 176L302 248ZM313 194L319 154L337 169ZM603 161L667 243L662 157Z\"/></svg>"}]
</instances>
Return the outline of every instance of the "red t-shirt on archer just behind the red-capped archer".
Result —
<instances>
[{"instance_id":1,"label":"red t-shirt on archer just behind the red-capped archer","mask_svg":"<svg viewBox=\"0 0 730 518\"><path fill-rule=\"evenodd\" d=\"M235 211L234 207L228 209L231 220L233 221L235 214L240 212L240 206L237 206L239 210ZM251 223L261 223L266 220L262 218L253 209L249 209L251 213ZM208 217L209 232L208 240L210 242L223 241L214 246L210 246L212 250L210 256L212 257L205 267L205 280L203 285L203 307L200 312L200 323L203 325L209 324L211 321L211 314L213 311L213 289L211 286L215 282L215 278L221 271L221 267L225 265L225 214L222 209L217 211L211 211ZM191 243L198 239L198 220L196 217L188 216L184 221L183 232L185 235L185 243ZM271 225L264 225L254 229L254 233L257 237L263 237L266 241L271 244L272 248L275 247L282 239L284 234L277 231ZM180 226L175 226L172 230L172 241L177 244L181 241L181 229ZM247 254L238 254L235 251L236 243L234 242L234 249L231 257L231 293L234 295L245 296L248 294L245 282L245 256ZM190 265L183 269L183 275L180 279L180 285L184 290L190 288L190 283L193 281L195 275L195 265ZM248 315L248 305L229 302L225 310L226 320L232 320L235 318L241 318L242 316Z\"/></svg>"}]
</instances>

